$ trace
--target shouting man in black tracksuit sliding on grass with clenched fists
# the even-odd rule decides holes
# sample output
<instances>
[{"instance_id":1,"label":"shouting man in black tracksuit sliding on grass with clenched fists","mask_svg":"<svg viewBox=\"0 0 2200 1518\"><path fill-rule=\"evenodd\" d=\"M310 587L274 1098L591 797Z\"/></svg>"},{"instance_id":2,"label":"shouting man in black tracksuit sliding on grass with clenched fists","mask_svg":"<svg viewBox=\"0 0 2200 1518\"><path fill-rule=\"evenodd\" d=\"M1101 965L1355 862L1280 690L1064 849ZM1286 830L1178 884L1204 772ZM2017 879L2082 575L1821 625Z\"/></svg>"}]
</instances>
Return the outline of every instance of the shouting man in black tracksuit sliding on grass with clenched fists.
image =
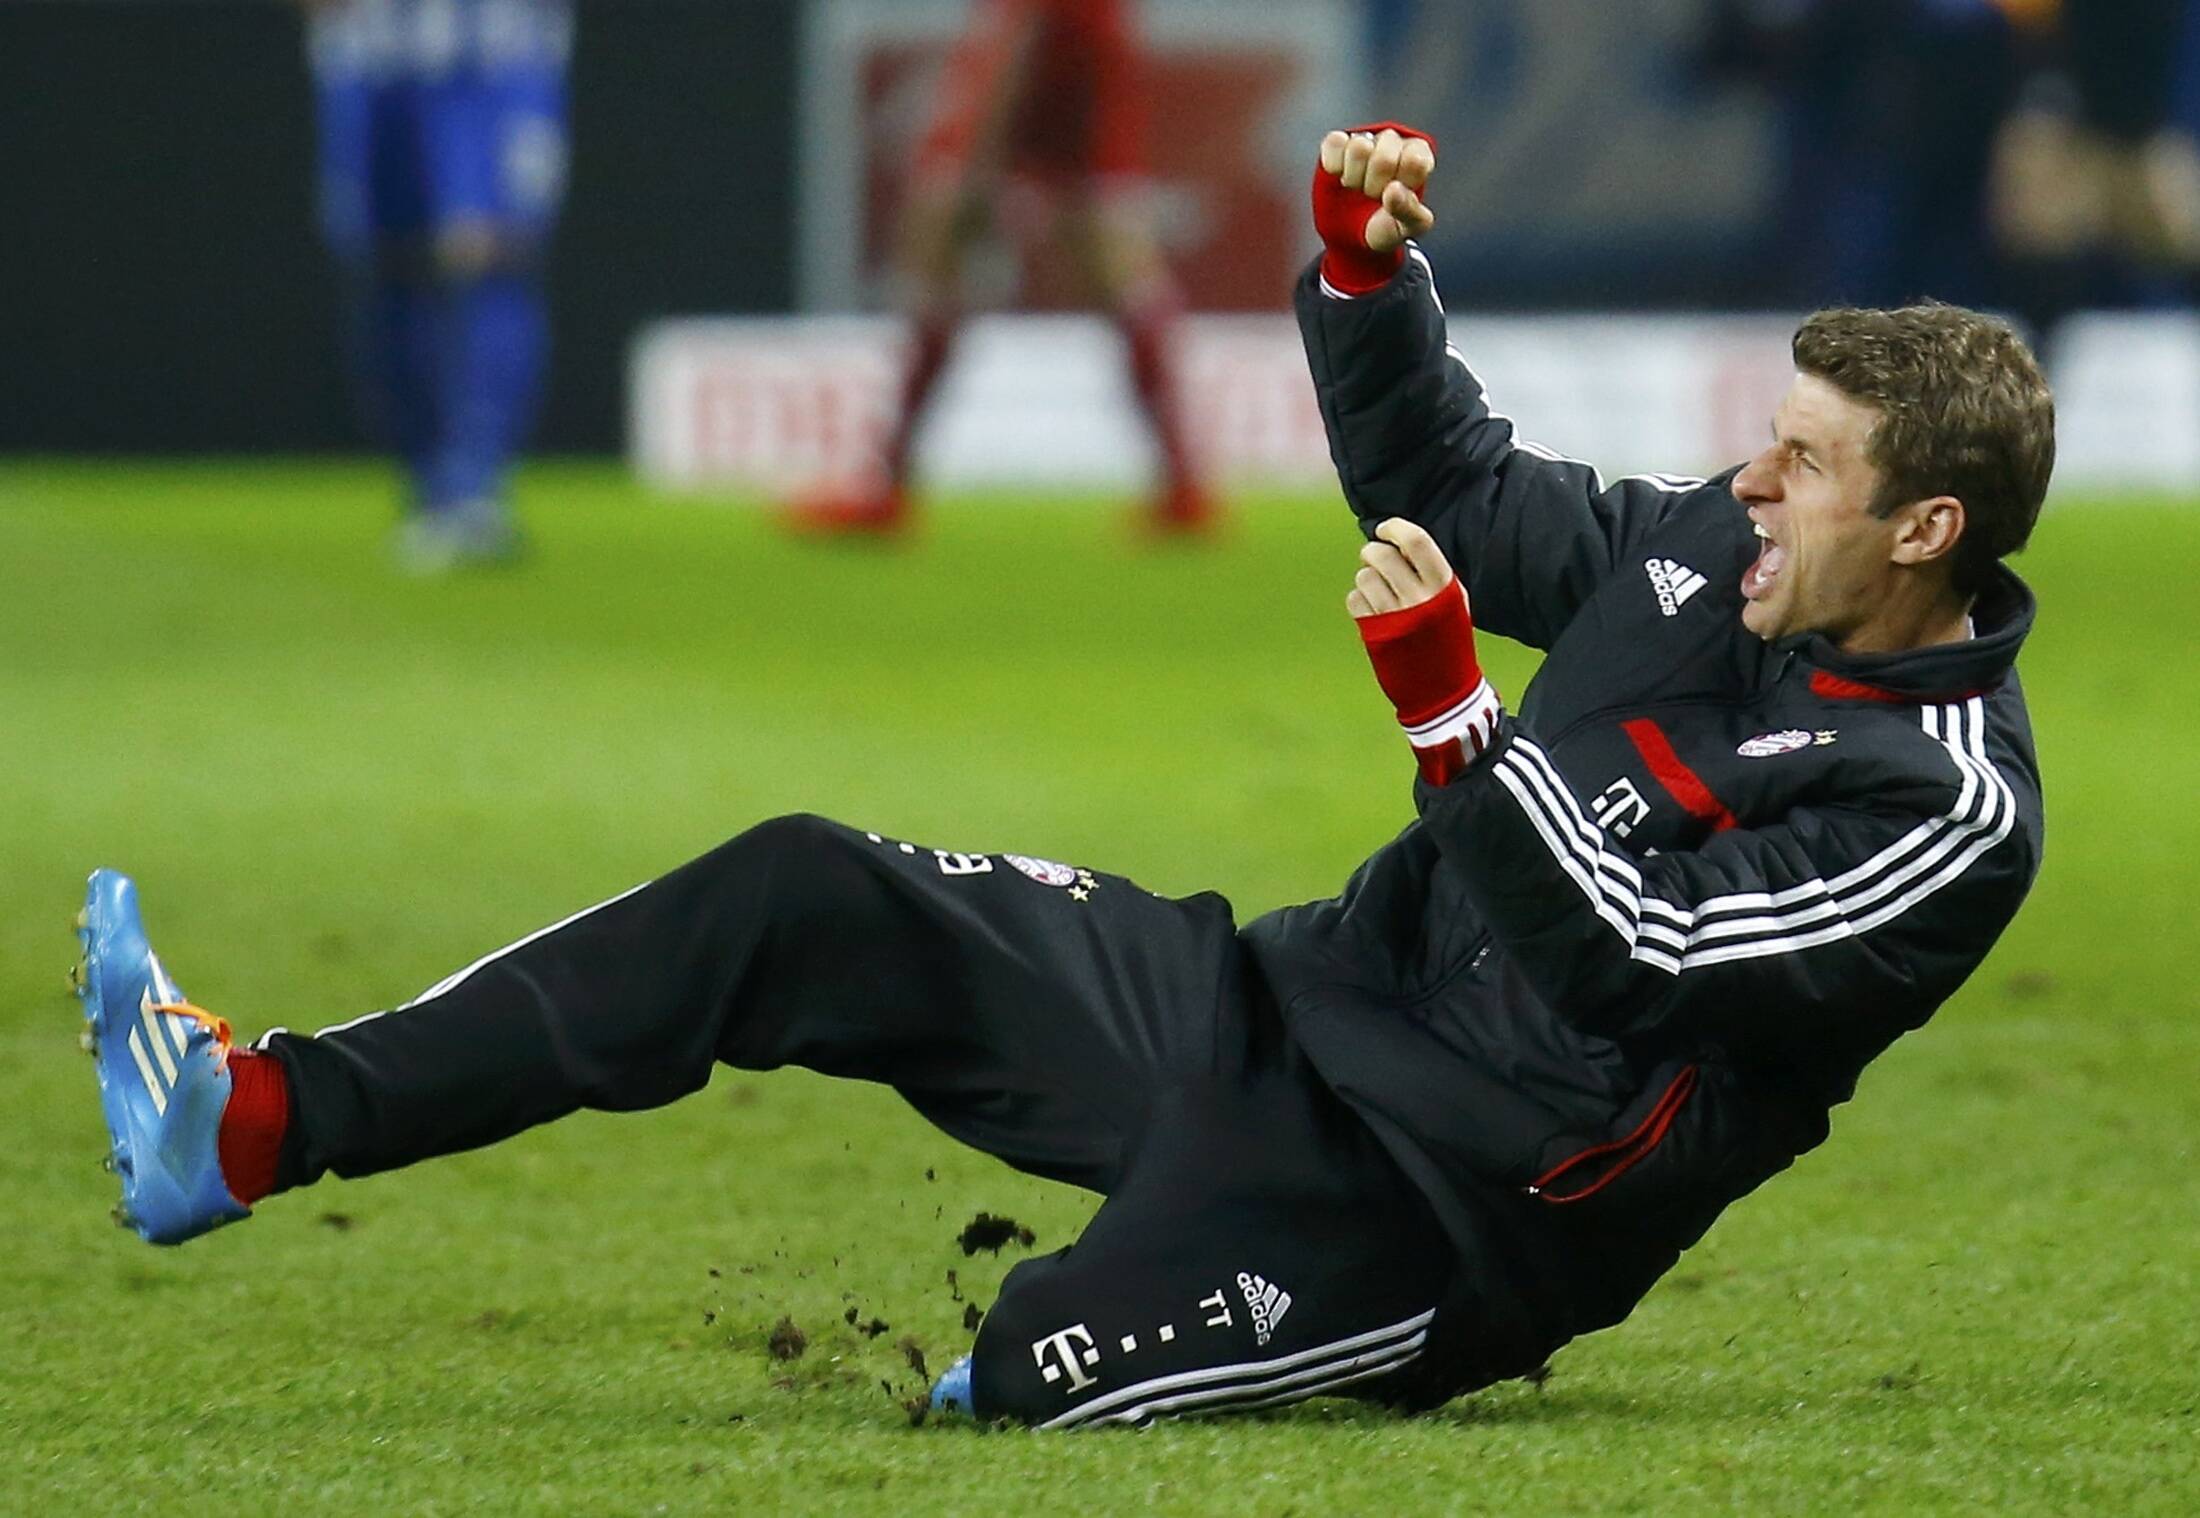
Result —
<instances>
[{"instance_id":1,"label":"shouting man in black tracksuit sliding on grass with clenched fists","mask_svg":"<svg viewBox=\"0 0 2200 1518\"><path fill-rule=\"evenodd\" d=\"M123 1221L176 1243L330 1170L794 1063L1107 1197L1008 1274L939 1406L1423 1408L1626 1318L2031 887L2033 596L2002 559L2053 400L1987 317L1826 310L1753 460L1604 482L1450 348L1410 244L1432 169L1417 134L1329 134L1296 295L1371 530L1346 607L1417 768L1419 818L1338 898L1239 928L1217 895L790 816L242 1049L101 871ZM1516 715L1476 620L1549 651Z\"/></svg>"}]
</instances>

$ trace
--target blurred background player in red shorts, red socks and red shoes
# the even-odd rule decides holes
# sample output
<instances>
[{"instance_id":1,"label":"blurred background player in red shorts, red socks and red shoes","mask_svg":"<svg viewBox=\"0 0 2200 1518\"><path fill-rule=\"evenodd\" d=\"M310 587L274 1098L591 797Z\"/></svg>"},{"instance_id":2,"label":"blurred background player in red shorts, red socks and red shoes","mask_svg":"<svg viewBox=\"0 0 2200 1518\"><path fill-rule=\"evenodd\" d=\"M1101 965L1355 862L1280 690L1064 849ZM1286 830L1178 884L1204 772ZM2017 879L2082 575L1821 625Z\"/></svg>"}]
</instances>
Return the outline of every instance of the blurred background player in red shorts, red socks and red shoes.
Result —
<instances>
[{"instance_id":1,"label":"blurred background player in red shorts, red socks and red shoes","mask_svg":"<svg viewBox=\"0 0 2200 1518\"><path fill-rule=\"evenodd\" d=\"M898 249L913 286L911 350L878 469L854 488L799 504L792 526L893 532L909 524L911 449L961 328L964 260L1012 200L1052 216L1089 299L1122 332L1162 462L1146 519L1168 532L1212 524L1177 414L1181 297L1137 205L1142 132L1131 0L977 0L911 172Z\"/></svg>"}]
</instances>

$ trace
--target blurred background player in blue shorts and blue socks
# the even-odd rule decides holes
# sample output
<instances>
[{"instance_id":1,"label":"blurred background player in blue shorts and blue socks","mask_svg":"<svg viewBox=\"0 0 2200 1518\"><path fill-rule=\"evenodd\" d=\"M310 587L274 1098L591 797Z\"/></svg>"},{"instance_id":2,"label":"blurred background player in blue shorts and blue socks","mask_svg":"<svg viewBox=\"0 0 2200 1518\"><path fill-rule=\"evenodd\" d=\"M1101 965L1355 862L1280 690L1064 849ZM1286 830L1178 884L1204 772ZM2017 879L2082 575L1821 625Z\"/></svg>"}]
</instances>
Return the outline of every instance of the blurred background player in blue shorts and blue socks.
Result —
<instances>
[{"instance_id":1,"label":"blurred background player in blue shorts and blue socks","mask_svg":"<svg viewBox=\"0 0 2200 1518\"><path fill-rule=\"evenodd\" d=\"M517 557L548 354L572 0L301 0L350 361L405 469L398 563Z\"/></svg>"}]
</instances>

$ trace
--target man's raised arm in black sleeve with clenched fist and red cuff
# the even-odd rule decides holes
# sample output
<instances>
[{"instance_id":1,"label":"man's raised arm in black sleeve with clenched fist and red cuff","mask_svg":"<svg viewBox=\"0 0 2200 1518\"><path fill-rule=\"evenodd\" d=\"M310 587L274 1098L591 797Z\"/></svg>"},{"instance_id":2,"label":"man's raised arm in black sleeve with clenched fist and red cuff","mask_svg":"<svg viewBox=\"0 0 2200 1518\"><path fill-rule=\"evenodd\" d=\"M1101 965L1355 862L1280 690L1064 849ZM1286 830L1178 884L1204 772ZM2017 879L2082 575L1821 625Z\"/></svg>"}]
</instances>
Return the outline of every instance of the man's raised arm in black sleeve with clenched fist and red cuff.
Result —
<instances>
[{"instance_id":1,"label":"man's raised arm in black sleeve with clenched fist and red cuff","mask_svg":"<svg viewBox=\"0 0 2200 1518\"><path fill-rule=\"evenodd\" d=\"M1459 565L1485 629L1551 647L1597 583L1703 480L1597 471L1522 442L1450 343L1428 260L1434 143L1410 128L1331 132L1313 172L1324 253L1298 328L1329 455L1364 532L1417 521Z\"/></svg>"}]
</instances>

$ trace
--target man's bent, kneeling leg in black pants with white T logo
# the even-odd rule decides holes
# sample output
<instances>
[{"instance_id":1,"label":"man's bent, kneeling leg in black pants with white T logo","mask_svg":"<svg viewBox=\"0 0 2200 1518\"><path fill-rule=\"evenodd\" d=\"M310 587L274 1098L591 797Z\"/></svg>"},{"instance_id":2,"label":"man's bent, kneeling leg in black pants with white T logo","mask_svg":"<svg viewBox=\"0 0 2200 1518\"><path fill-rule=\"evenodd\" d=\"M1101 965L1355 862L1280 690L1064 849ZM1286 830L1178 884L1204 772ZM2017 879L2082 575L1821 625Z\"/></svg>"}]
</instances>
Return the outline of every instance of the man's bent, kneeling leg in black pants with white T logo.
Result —
<instances>
[{"instance_id":1,"label":"man's bent, kneeling leg in black pants with white T logo","mask_svg":"<svg viewBox=\"0 0 2200 1518\"><path fill-rule=\"evenodd\" d=\"M1302 1060L1179 1082L1085 1234L1010 1272L972 1410L1091 1428L1327 1395L1415 1404L1450 1261Z\"/></svg>"}]
</instances>

